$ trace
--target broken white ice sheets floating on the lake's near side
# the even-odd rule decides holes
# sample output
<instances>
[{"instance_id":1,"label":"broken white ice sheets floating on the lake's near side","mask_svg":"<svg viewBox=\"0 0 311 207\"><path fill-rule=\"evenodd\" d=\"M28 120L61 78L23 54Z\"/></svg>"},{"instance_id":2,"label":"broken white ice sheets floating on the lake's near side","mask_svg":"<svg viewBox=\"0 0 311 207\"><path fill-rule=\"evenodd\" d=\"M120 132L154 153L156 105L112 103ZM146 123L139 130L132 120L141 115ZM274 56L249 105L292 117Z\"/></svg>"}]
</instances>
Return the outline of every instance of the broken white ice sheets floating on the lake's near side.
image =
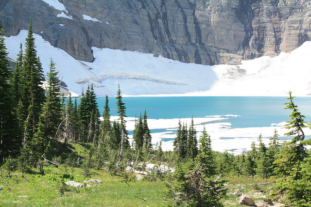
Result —
<instances>
[{"instance_id":1,"label":"broken white ice sheets floating on the lake's near side","mask_svg":"<svg viewBox=\"0 0 311 207\"><path fill-rule=\"evenodd\" d=\"M224 118L226 117L226 118ZM284 128L286 122L271 124L270 127L247 127L247 128L231 128L231 123L221 122L213 123L215 121L225 121L230 117L238 117L238 115L214 115L204 118L193 118L194 127L197 131L197 139L200 139L201 132L205 126L207 133L212 140L212 148L215 151L224 152L232 151L234 154L240 154L243 151L250 150L252 142L258 144L258 137L261 134L262 141L268 146L269 139L277 130L279 138L282 141L291 140L292 137L284 137L288 132ZM118 120L118 116L111 116L110 120ZM126 117L126 129L132 131L135 126L135 117ZM191 118L182 119L147 119L149 129L152 135L152 144L155 147L156 143L162 140L162 149L164 151L173 150L173 140L176 137L176 130L179 120L182 123L190 125ZM154 129L163 129L162 132L153 132ZM304 129L306 136L311 136L311 129ZM129 135L130 142L133 141L133 135Z\"/></svg>"}]
</instances>

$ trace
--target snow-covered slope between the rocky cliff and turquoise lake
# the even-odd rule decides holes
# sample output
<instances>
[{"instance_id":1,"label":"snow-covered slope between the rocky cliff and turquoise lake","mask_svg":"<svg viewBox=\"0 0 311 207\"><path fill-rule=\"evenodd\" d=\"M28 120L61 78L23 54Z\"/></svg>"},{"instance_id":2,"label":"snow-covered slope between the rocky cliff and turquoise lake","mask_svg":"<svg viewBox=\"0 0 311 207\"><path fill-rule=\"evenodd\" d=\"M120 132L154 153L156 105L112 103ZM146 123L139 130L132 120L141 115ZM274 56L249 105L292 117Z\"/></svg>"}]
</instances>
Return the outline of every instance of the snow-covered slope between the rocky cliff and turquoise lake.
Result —
<instances>
[{"instance_id":1,"label":"snow-covered slope between the rocky cliff and turquoise lake","mask_svg":"<svg viewBox=\"0 0 311 207\"><path fill-rule=\"evenodd\" d=\"M27 31L5 38L9 57L16 60ZM81 94L93 83L97 96L295 96L311 94L311 42L292 53L261 57L239 65L185 64L141 52L92 48L93 63L77 61L34 34L45 73L50 58L68 89Z\"/></svg>"}]
</instances>

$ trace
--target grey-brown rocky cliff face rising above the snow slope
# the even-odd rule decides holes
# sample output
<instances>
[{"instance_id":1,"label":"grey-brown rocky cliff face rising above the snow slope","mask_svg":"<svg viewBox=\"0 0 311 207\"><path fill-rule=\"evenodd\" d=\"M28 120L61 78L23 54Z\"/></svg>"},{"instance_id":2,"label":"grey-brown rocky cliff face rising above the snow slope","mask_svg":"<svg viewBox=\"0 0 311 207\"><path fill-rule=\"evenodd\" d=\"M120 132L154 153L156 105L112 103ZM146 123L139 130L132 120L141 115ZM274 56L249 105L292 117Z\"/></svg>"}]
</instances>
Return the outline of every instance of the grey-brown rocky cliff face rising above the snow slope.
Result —
<instances>
[{"instance_id":1,"label":"grey-brown rocky cliff face rising above the snow slope","mask_svg":"<svg viewBox=\"0 0 311 207\"><path fill-rule=\"evenodd\" d=\"M311 0L58 1L1 0L5 35L32 17L35 33L78 60L92 62L97 47L210 65L276 56L311 37Z\"/></svg>"}]
</instances>

